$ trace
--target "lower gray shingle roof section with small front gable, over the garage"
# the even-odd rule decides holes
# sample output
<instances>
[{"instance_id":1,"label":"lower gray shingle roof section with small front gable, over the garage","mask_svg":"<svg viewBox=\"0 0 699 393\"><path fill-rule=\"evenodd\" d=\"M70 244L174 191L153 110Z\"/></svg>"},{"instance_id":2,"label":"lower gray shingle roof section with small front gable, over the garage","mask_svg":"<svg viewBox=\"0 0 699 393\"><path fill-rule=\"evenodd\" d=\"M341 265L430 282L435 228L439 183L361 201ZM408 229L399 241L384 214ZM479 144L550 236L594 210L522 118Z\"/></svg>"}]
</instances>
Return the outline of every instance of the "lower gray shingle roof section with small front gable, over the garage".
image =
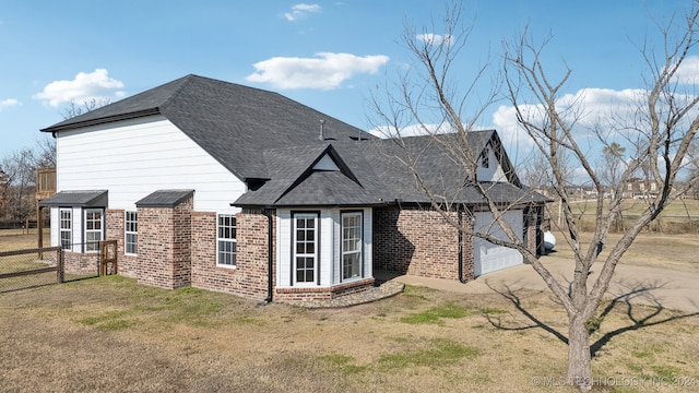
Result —
<instances>
[{"instance_id":1,"label":"lower gray shingle roof section with small front gable, over the garage","mask_svg":"<svg viewBox=\"0 0 699 393\"><path fill-rule=\"evenodd\" d=\"M443 135L440 138L454 138ZM274 150L264 153L270 172L276 174L260 189L249 191L234 204L245 206L376 205L394 203L429 203L430 199L404 164L407 155L440 202L482 204L483 195L467 182L467 172L431 136L406 138L401 146L393 140L335 142L322 151L317 146ZM500 146L495 131L469 134L474 152L490 143ZM312 165L324 154L346 165L346 171L313 171ZM510 182L481 182L496 203L541 203L543 195L519 186L505 151L498 153L509 171ZM476 154L477 156L477 154ZM356 180L356 181L355 181Z\"/></svg>"}]
</instances>

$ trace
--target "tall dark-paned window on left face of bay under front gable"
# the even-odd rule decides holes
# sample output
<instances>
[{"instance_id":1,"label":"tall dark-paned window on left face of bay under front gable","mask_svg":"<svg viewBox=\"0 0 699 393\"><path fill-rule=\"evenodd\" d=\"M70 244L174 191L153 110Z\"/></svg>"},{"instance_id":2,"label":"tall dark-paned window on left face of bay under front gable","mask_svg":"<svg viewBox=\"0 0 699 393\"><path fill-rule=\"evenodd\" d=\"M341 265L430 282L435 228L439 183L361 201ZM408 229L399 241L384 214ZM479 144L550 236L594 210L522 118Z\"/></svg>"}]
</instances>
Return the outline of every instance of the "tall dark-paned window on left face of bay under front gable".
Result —
<instances>
[{"instance_id":1,"label":"tall dark-paned window on left face of bay under front gable","mask_svg":"<svg viewBox=\"0 0 699 393\"><path fill-rule=\"evenodd\" d=\"M294 215L294 264L296 283L316 282L318 253L318 215Z\"/></svg>"}]
</instances>

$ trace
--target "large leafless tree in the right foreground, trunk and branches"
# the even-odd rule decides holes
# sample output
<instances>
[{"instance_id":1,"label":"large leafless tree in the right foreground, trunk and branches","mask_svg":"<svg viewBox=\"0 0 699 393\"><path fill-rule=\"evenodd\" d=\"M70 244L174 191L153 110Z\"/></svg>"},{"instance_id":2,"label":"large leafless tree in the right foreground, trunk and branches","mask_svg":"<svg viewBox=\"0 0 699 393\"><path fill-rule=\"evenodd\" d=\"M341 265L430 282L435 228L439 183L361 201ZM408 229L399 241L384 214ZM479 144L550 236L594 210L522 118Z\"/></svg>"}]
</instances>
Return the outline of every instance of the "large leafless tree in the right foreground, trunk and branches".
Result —
<instances>
[{"instance_id":1,"label":"large leafless tree in the right foreground, trunk and branches","mask_svg":"<svg viewBox=\"0 0 699 393\"><path fill-rule=\"evenodd\" d=\"M411 169L416 183L429 195L433 209L440 212L442 217L459 230L472 233L495 245L519 250L557 297L568 315L567 380L581 391L588 391L592 386L590 331L587 322L597 312L616 265L637 235L673 200L697 182L696 178L690 177L689 181L680 184L677 177L690 158L690 145L699 128L699 97L692 92L683 92L683 84L678 82L680 66L697 44L698 16L699 7L695 1L684 17L673 19L667 25L661 26L664 48L660 55L652 52L650 47L639 47L650 75L647 79L648 90L638 99L636 116L625 124L616 122L616 129L613 130L633 146L629 157L619 162L618 183L624 183L635 172L647 168L649 176L659 184L659 190L656 196L648 201L648 209L614 245L607 245L607 235L613 218L620 211L621 192L614 192L612 200L604 203L606 182L593 165L590 152L578 143L579 122L585 114L583 102L568 100L561 105L564 86L571 70L564 64L562 73L548 73L549 70L542 62L542 52L550 38L536 45L525 31L520 37L505 45L502 70L506 97L514 108L520 129L531 138L535 148L545 158L550 176L548 181L555 190L556 198L560 200L564 223L561 229L565 229L561 233L565 239L559 243L561 247L570 247L574 254L571 283L556 279L535 253L513 233L505 219L505 213L513 209L513 204L496 203L489 196L489 186L477 181L478 157L476 152L471 151L467 139L485 106L491 102L478 102L473 95L473 86L484 79L486 68L478 68L475 82L469 83L465 88L460 86L464 81L453 78L450 72L469 35L469 28L462 25L459 5L448 9L442 21L443 26L431 26L443 28L441 39L425 39L436 36L428 34L428 31L418 32L406 27L403 38L417 60L422 73L416 74L416 69L411 68L408 73L401 75L395 88L388 91L387 100L375 99L379 121L384 128L391 129L387 133L394 136L396 143L404 148L402 160ZM561 76L552 78L554 74ZM476 105L473 105L474 102ZM469 107L471 111L467 114ZM401 138L402 130L407 124L415 127L415 123L424 133L433 135L434 146L438 146L443 154L449 154L469 175L467 178L474 180L467 181L464 187L471 187L482 195L495 222L507 235L506 239L494 236L488 230L474 230L452 218L450 211L454 206L449 201L453 199L436 188L435 182L425 178L418 170L419 157L425 152L416 152L406 142L407 139ZM445 129L452 132L449 138L436 132ZM621 153L617 148L614 154L618 156ZM596 190L595 226L589 243L581 241L581 229L571 203L572 195L567 188L567 165L583 171L589 178L589 183ZM605 245L611 251L603 261L600 274L592 278L592 265L597 261Z\"/></svg>"}]
</instances>

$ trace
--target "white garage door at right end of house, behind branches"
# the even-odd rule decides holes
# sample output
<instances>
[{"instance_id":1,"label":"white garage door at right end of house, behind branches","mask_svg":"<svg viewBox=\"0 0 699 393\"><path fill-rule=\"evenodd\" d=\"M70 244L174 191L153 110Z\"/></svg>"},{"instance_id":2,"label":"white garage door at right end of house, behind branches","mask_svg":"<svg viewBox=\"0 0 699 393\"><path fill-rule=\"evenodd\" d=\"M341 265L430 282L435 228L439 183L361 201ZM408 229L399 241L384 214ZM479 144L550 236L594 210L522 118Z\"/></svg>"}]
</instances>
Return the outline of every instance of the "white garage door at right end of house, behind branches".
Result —
<instances>
[{"instance_id":1,"label":"white garage door at right end of house, behind branches","mask_svg":"<svg viewBox=\"0 0 699 393\"><path fill-rule=\"evenodd\" d=\"M502 240L508 239L502 228L495 222L495 219L493 219L493 214L490 212L476 212L475 216L476 231L488 233ZM512 230L521 239L524 228L522 211L516 210L506 212L505 219L510 224ZM523 261L522 254L520 254L519 251L507 247L496 246L481 238L473 239L473 254L474 274L476 277L482 274L521 264Z\"/></svg>"}]
</instances>

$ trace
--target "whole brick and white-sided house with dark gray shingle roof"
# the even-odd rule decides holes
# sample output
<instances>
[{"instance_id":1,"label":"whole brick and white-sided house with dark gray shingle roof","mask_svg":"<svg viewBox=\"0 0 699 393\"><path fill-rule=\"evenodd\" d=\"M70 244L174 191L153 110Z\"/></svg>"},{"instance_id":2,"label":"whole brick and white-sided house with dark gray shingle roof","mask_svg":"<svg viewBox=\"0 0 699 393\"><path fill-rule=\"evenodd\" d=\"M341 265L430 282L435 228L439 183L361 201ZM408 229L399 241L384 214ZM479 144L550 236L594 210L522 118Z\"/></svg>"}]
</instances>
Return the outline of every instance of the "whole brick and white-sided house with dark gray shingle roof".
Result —
<instances>
[{"instance_id":1,"label":"whole brick and white-sided house with dark gray shingle roof","mask_svg":"<svg viewBox=\"0 0 699 393\"><path fill-rule=\"evenodd\" d=\"M405 150L276 93L188 75L42 130L57 140L51 245L94 271L117 240L119 274L297 302L367 289L376 270L466 282L522 263L430 207ZM448 135L443 138L450 138ZM500 230L428 138L418 170L460 202L454 219ZM473 132L478 181L532 250L546 199L523 188L497 132ZM503 236L503 235L502 235Z\"/></svg>"}]
</instances>

